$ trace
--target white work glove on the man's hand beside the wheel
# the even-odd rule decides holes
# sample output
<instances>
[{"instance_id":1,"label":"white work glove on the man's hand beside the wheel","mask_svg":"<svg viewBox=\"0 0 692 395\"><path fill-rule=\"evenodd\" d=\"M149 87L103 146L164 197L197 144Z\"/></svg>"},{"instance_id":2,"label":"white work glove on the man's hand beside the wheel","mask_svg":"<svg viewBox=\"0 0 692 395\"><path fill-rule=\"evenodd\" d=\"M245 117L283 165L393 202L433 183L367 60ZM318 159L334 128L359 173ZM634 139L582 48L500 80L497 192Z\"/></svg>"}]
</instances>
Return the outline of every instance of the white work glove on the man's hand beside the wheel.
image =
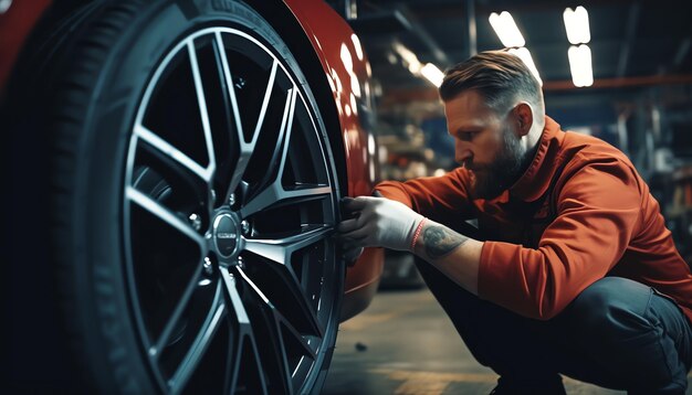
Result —
<instances>
[{"instance_id":1,"label":"white work glove on the man's hand beside the wheel","mask_svg":"<svg viewBox=\"0 0 692 395\"><path fill-rule=\"evenodd\" d=\"M347 247L386 247L411 250L418 225L424 217L402 203L386 198L344 198L342 207L354 218L337 231Z\"/></svg>"}]
</instances>

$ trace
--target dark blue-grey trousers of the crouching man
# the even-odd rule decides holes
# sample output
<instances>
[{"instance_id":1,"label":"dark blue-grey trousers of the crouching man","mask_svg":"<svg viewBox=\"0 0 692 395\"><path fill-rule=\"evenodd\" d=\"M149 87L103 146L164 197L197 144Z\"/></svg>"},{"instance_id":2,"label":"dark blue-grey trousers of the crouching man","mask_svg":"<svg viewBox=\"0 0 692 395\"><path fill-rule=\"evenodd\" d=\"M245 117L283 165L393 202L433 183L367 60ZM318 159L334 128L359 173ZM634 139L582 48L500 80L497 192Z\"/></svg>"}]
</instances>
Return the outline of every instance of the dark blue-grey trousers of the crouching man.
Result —
<instances>
[{"instance_id":1,"label":"dark blue-grey trousers of the crouching man","mask_svg":"<svg viewBox=\"0 0 692 395\"><path fill-rule=\"evenodd\" d=\"M417 266L471 353L513 383L513 393L559 394L558 374L630 394L685 393L692 328L651 287L606 277L539 321L481 300L424 261Z\"/></svg>"}]
</instances>

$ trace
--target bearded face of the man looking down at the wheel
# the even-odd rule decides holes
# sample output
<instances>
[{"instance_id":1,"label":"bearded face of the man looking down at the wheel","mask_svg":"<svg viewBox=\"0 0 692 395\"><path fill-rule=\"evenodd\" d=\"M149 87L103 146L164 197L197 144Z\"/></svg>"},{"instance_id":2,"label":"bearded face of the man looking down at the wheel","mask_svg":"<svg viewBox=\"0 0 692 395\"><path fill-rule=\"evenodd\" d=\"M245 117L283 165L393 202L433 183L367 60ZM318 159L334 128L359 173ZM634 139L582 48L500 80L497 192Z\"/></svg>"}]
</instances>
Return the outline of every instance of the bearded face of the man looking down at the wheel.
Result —
<instances>
[{"instance_id":1,"label":"bearded face of the man looking down at the wheel","mask_svg":"<svg viewBox=\"0 0 692 395\"><path fill-rule=\"evenodd\" d=\"M455 141L455 160L471 171L473 199L494 199L524 171L525 149L511 111L496 114L475 90L444 104L447 127Z\"/></svg>"}]
</instances>

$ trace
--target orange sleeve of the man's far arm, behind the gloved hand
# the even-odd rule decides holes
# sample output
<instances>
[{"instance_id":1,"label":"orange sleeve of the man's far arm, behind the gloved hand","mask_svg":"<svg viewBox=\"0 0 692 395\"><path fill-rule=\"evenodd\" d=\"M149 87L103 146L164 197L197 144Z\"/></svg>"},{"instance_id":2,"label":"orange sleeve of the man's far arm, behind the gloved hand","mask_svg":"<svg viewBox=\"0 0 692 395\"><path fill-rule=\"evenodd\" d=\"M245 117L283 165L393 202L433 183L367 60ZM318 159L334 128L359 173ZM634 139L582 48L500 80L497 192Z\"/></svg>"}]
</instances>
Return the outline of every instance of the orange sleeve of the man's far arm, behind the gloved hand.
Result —
<instances>
[{"instance_id":1,"label":"orange sleeve of the man's far arm, behind the gloved hand","mask_svg":"<svg viewBox=\"0 0 692 395\"><path fill-rule=\"evenodd\" d=\"M426 177L406 182L385 181L375 186L382 196L401 202L413 211L442 222L459 216L472 216L466 185L469 175L455 169L441 177Z\"/></svg>"}]
</instances>

